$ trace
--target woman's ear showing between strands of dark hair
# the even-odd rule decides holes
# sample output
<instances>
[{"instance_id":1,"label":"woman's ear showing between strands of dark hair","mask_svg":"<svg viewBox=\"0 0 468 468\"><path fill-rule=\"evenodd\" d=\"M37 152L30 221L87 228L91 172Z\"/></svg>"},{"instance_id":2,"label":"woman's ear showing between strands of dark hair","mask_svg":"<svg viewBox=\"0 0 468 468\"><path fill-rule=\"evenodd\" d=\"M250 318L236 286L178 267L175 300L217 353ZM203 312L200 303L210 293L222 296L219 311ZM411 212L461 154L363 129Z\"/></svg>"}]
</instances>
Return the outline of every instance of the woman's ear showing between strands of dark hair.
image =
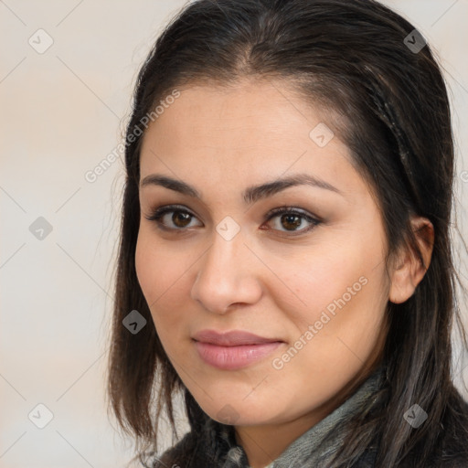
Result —
<instances>
[{"instance_id":1,"label":"woman's ear showing between strands of dark hair","mask_svg":"<svg viewBox=\"0 0 468 468\"><path fill-rule=\"evenodd\" d=\"M431 263L434 245L434 227L427 218L414 217L411 219L414 235L418 241L424 265L420 264L413 250L405 247L396 261L396 268L391 272L391 285L388 300L392 303L404 303L413 295L429 264Z\"/></svg>"}]
</instances>

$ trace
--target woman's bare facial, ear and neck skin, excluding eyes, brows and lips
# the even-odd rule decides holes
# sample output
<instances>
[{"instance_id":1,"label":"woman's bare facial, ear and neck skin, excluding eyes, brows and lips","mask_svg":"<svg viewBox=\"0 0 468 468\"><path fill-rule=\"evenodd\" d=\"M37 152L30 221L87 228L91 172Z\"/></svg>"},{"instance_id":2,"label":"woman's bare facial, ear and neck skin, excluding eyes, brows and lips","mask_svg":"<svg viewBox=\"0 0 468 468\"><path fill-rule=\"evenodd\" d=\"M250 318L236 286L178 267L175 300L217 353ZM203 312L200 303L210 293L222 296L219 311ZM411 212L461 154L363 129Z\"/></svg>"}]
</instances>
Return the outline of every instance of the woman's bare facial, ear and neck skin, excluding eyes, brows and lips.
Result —
<instances>
[{"instance_id":1,"label":"woman's bare facial, ear and neck skin, excluding eyes, brows and lips","mask_svg":"<svg viewBox=\"0 0 468 468\"><path fill-rule=\"evenodd\" d=\"M271 463L367 378L384 345L388 300L406 301L425 272L404 250L386 272L378 206L339 135L324 147L309 137L319 122L335 128L284 83L242 80L229 89L182 90L144 135L141 181L153 174L181 179L201 199L141 186L138 280L177 374L211 418L235 425L253 468ZM251 205L241 197L248 186L299 173L341 194L302 185ZM169 204L194 216L181 222L166 214L172 231L145 218ZM305 218L295 228L281 214L266 218L282 206L322 222L305 231L313 226ZM240 228L230 240L216 230L227 216ZM431 235L427 219L414 218L414 227ZM429 265L431 248L420 247ZM272 367L362 277L366 285L281 369ZM249 367L217 369L191 339L207 328L284 343Z\"/></svg>"}]
</instances>

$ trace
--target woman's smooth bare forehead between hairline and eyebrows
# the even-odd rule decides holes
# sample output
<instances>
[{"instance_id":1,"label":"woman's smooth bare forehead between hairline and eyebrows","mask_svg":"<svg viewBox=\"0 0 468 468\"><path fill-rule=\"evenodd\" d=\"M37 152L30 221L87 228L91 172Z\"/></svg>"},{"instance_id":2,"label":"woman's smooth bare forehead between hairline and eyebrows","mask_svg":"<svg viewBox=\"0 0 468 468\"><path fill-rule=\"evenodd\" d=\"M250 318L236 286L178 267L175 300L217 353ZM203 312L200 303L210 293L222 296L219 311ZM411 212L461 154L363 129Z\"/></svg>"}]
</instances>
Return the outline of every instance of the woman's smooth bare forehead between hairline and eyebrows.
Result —
<instances>
[{"instance_id":1,"label":"woman's smooth bare forehead between hairline and eyebrows","mask_svg":"<svg viewBox=\"0 0 468 468\"><path fill-rule=\"evenodd\" d=\"M187 182L209 176L247 186L309 172L344 191L362 189L332 113L311 106L282 82L191 86L171 102L144 134L142 178L165 172Z\"/></svg>"}]
</instances>

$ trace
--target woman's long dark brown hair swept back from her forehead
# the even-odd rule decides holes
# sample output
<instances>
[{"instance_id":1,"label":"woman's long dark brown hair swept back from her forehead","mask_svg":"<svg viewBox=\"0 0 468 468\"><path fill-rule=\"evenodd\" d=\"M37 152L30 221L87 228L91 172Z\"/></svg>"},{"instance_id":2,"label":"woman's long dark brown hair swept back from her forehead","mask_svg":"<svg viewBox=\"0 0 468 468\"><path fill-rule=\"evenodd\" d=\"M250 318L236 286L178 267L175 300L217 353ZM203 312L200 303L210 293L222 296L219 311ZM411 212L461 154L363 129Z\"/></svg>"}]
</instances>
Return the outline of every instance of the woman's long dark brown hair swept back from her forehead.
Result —
<instances>
[{"instance_id":1,"label":"woman's long dark brown hair swept back from her forehead","mask_svg":"<svg viewBox=\"0 0 468 468\"><path fill-rule=\"evenodd\" d=\"M185 396L192 430L207 417L165 355L135 273L141 133L154 106L174 90L228 86L245 77L285 80L304 101L340 116L337 134L381 209L388 264L401 246L423 262L412 215L430 219L434 228L431 263L415 293L405 303L388 302L379 404L346 429L334 466L352 466L374 443L377 467L429 466L444 432L468 441L451 367L454 318L466 344L449 231L451 111L441 69L423 41L406 19L373 0L198 0L157 38L139 72L127 127L108 377L110 409L138 448L157 450L164 411L176 436L177 391ZM137 335L122 326L132 310L148 322ZM414 403L428 409L417 431L403 420Z\"/></svg>"}]
</instances>

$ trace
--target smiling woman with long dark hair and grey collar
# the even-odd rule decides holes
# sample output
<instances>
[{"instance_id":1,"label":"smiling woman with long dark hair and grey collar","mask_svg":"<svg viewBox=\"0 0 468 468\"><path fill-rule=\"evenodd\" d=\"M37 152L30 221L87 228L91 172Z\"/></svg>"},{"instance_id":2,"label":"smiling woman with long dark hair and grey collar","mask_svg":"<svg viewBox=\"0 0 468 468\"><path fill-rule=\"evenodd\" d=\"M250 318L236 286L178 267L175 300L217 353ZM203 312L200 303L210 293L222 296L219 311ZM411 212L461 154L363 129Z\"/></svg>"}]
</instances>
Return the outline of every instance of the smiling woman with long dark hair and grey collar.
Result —
<instances>
[{"instance_id":1,"label":"smiling woman with long dark hair and grey collar","mask_svg":"<svg viewBox=\"0 0 468 468\"><path fill-rule=\"evenodd\" d=\"M109 393L145 466L468 466L451 114L408 21L192 2L140 71L125 162ZM191 431L156 455L177 394Z\"/></svg>"}]
</instances>

